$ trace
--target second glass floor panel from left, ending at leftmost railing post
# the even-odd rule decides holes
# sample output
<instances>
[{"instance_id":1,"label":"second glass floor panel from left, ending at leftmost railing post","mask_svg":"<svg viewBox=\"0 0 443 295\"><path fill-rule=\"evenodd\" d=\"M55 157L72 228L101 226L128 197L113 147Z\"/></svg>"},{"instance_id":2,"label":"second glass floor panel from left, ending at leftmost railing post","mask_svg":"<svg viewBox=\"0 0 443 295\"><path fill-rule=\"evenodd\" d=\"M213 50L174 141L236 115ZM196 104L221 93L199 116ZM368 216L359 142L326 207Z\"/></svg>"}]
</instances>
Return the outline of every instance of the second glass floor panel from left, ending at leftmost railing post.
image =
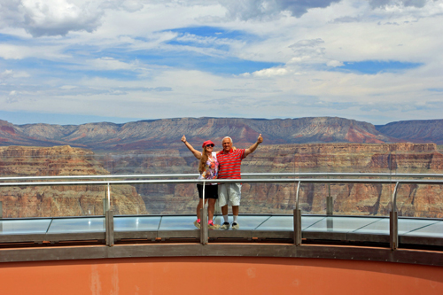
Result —
<instances>
[{"instance_id":1,"label":"second glass floor panel from left, ending at leftmost railing post","mask_svg":"<svg viewBox=\"0 0 443 295\"><path fill-rule=\"evenodd\" d=\"M101 232L105 231L105 217L54 219L48 233L72 232Z\"/></svg>"}]
</instances>

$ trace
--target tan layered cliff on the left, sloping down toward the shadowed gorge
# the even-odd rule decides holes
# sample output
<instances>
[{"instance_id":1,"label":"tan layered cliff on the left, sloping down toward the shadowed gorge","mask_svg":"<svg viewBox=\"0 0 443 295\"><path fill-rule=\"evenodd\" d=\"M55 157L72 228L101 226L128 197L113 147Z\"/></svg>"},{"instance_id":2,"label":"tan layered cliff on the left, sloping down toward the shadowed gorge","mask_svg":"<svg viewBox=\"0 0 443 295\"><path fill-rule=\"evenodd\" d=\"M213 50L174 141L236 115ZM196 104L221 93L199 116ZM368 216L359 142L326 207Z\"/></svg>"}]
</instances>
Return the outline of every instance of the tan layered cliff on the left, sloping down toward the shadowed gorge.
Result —
<instances>
[{"instance_id":1,"label":"tan layered cliff on the left, sloping down toward the shadowed gorge","mask_svg":"<svg viewBox=\"0 0 443 295\"><path fill-rule=\"evenodd\" d=\"M92 151L70 146L0 147L0 177L108 174ZM96 185L4 187L0 201L8 218L101 215L105 191L105 186ZM111 196L117 214L147 213L143 199L130 185L113 186Z\"/></svg>"}]
</instances>

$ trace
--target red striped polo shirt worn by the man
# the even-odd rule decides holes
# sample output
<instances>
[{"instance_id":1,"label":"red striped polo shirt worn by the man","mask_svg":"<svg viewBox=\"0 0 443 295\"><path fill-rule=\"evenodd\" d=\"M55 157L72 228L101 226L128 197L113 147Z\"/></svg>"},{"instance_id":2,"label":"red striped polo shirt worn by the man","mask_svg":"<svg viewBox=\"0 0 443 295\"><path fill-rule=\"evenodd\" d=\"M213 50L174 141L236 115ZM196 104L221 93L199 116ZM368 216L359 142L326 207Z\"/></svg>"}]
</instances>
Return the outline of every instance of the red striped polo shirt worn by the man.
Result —
<instances>
[{"instance_id":1,"label":"red striped polo shirt worn by the man","mask_svg":"<svg viewBox=\"0 0 443 295\"><path fill-rule=\"evenodd\" d=\"M245 159L245 149L238 149L229 152L219 151L217 160L219 161L219 175L217 178L241 179L240 166L242 159Z\"/></svg>"}]
</instances>

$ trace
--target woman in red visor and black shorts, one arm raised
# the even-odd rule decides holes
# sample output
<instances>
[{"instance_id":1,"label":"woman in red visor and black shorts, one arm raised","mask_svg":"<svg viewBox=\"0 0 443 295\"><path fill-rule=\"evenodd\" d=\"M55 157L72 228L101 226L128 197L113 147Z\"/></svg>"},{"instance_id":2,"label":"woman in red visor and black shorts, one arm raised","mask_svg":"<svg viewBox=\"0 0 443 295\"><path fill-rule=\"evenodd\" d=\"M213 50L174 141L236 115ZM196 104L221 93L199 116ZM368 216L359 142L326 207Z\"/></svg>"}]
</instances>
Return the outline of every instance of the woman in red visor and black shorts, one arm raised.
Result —
<instances>
[{"instance_id":1,"label":"woman in red visor and black shorts, one arm raised","mask_svg":"<svg viewBox=\"0 0 443 295\"><path fill-rule=\"evenodd\" d=\"M186 144L186 147L194 154L194 156L199 159L198 172L200 175L198 179L216 179L219 172L219 162L214 152L214 143L210 140L206 140L203 143L203 151L195 150L190 143L186 141L186 136L182 137L182 142ZM203 185L197 184L198 197L200 201L197 206L197 221L194 221L194 225L200 229L200 209L203 208ZM217 183L205 183L205 204L209 203L207 206L207 228L208 229L218 229L220 225L214 224L214 205L218 198L218 184ZM209 200L209 201L208 201Z\"/></svg>"}]
</instances>

